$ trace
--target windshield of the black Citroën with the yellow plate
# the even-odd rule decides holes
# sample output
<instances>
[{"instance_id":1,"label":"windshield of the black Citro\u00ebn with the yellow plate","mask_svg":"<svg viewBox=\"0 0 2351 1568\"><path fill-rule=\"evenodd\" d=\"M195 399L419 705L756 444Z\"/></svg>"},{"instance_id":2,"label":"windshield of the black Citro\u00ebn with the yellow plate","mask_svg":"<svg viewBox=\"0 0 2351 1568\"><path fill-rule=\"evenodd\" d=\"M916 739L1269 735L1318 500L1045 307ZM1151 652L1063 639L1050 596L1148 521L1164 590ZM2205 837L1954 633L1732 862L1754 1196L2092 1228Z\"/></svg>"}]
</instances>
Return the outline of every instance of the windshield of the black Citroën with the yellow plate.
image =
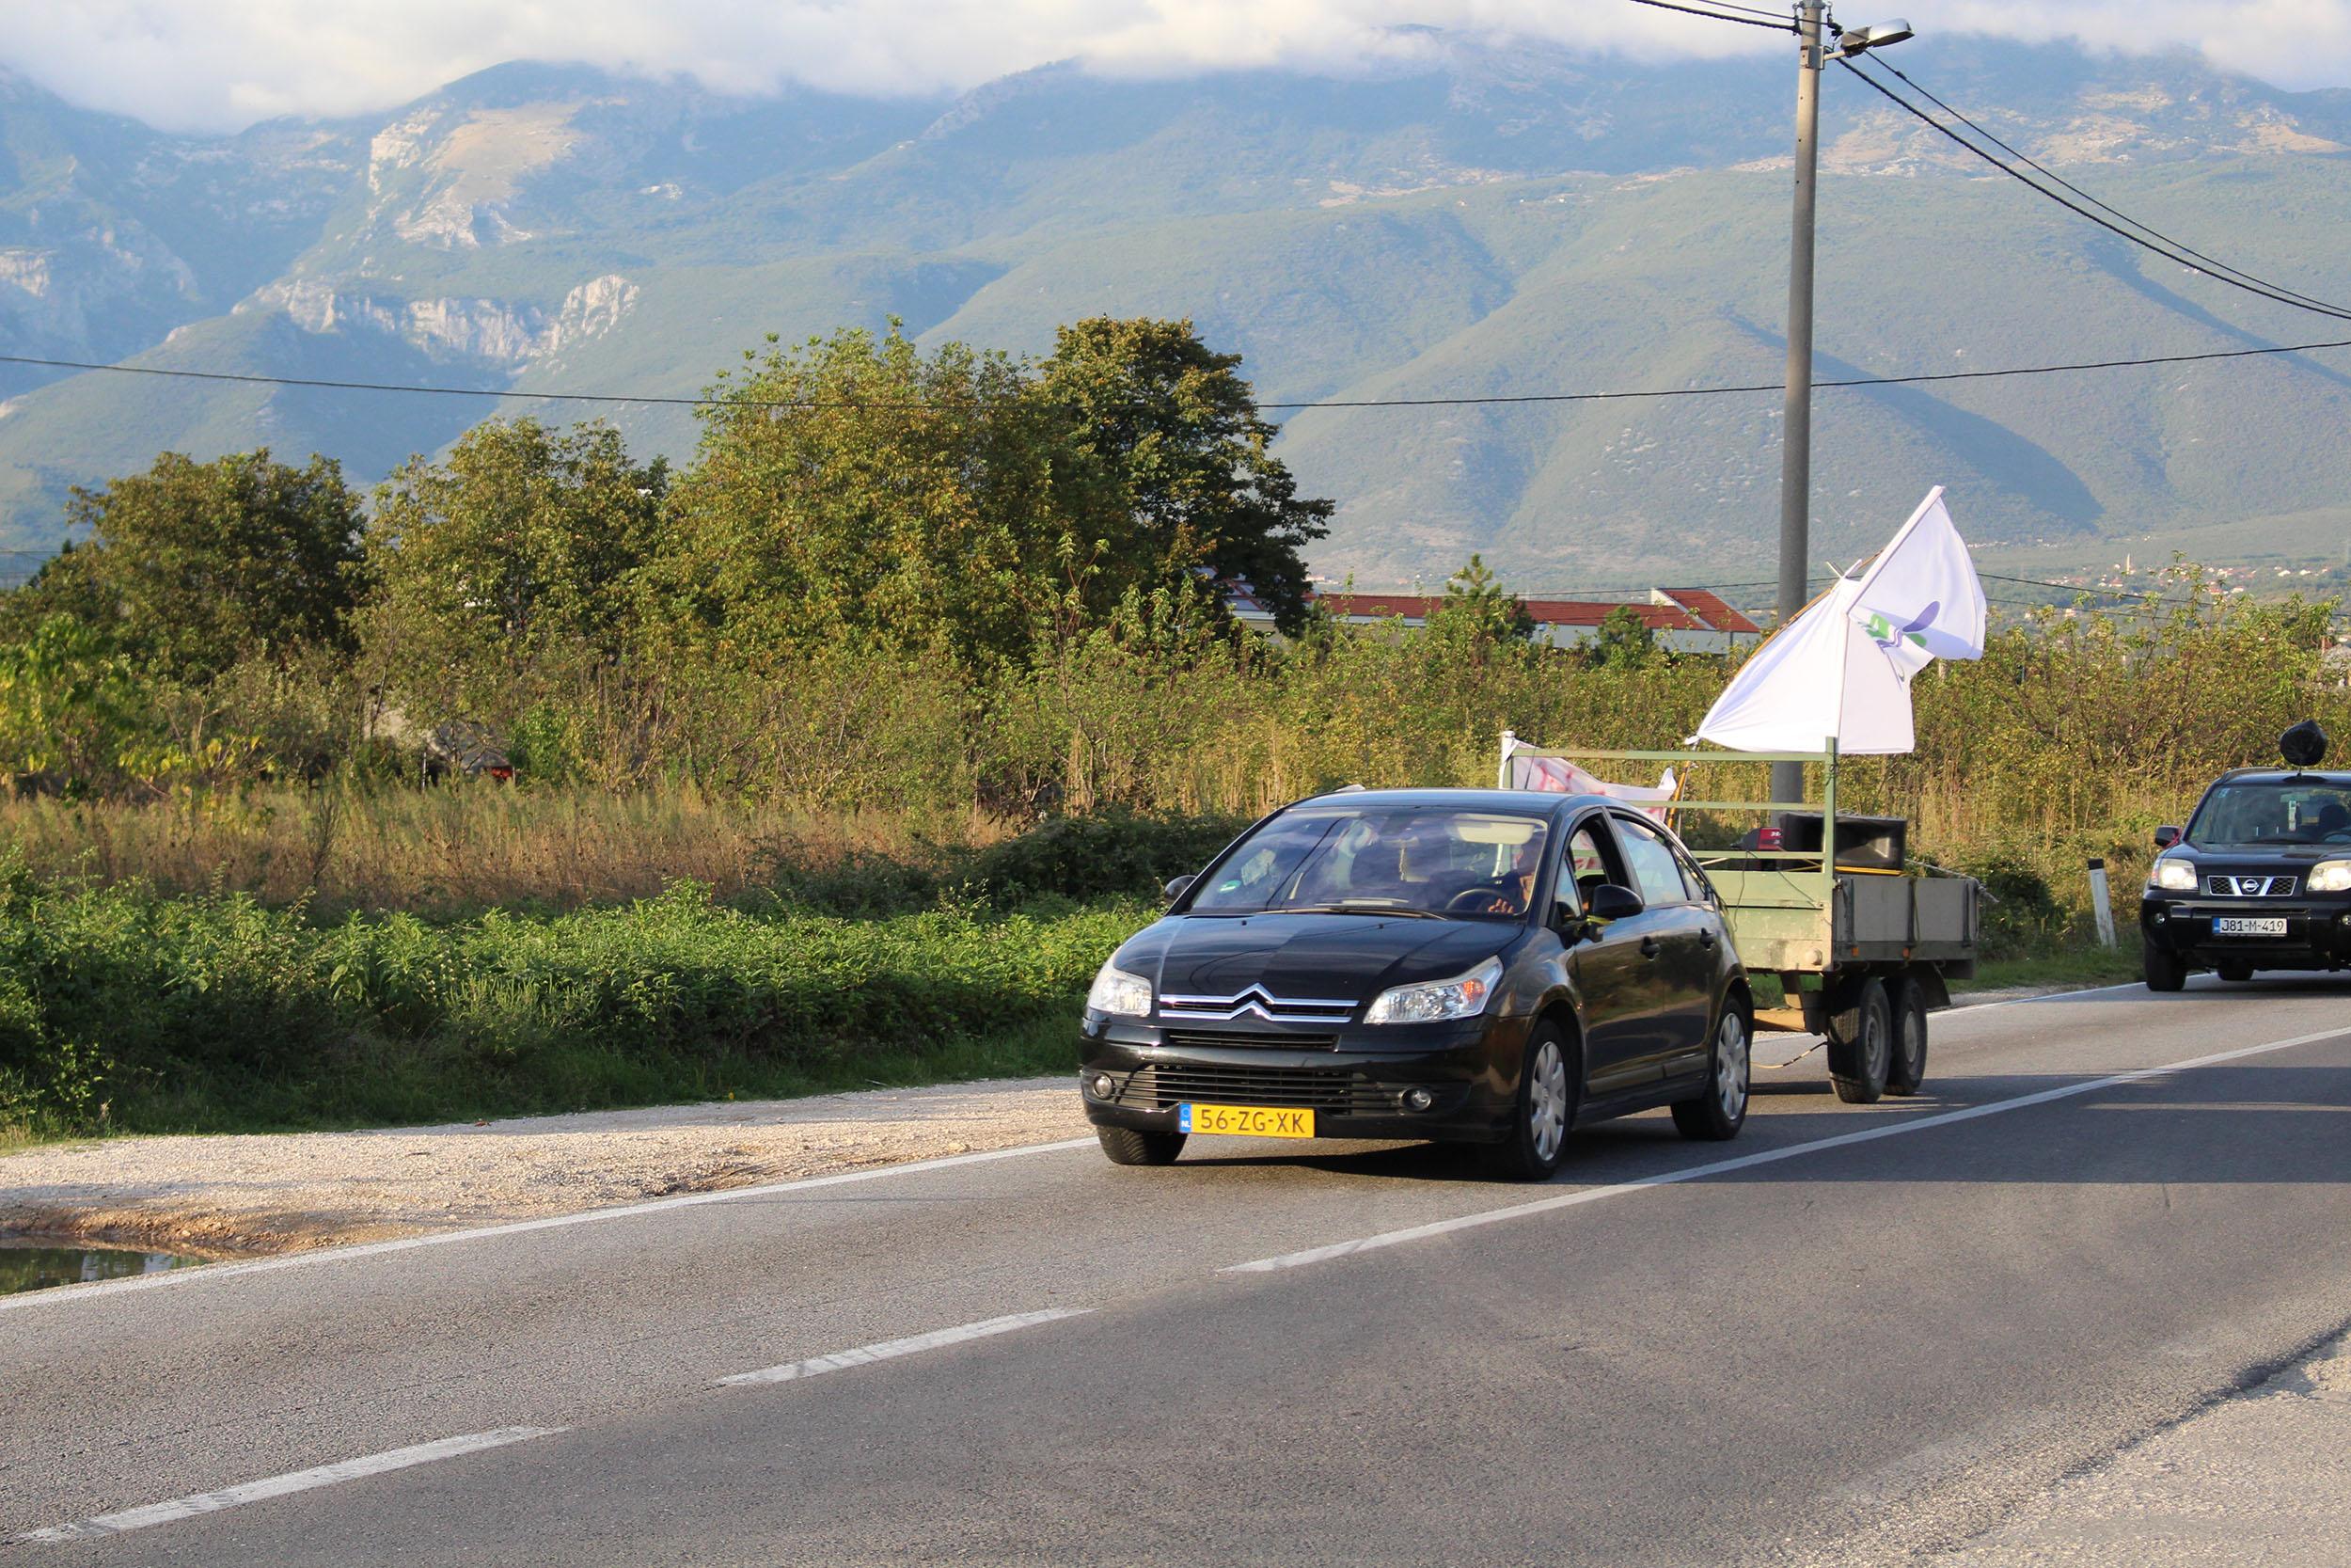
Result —
<instances>
[{"instance_id":1,"label":"windshield of the black Citro\u00ebn with the yellow plate","mask_svg":"<svg viewBox=\"0 0 2351 1568\"><path fill-rule=\"evenodd\" d=\"M1260 827L1192 896L1192 914L1342 912L1519 919L1545 823L1453 809L1305 806Z\"/></svg>"}]
</instances>

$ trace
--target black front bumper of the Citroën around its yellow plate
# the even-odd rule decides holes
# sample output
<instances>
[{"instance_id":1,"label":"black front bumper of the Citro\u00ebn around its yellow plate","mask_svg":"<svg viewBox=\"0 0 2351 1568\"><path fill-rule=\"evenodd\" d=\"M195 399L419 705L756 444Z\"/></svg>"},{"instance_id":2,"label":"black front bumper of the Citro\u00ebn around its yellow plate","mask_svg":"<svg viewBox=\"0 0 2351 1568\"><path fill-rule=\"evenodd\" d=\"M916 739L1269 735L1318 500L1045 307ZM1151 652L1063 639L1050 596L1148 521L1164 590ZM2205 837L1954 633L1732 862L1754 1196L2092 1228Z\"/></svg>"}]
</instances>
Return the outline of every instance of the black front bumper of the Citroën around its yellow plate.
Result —
<instances>
[{"instance_id":1,"label":"black front bumper of the Citro\u00ebn around its yellow plate","mask_svg":"<svg viewBox=\"0 0 2351 1568\"><path fill-rule=\"evenodd\" d=\"M1354 1025L1305 1044L1089 1013L1079 1095L1096 1126L1147 1133L1183 1131L1183 1105L1253 1105L1307 1107L1319 1138L1495 1143L1509 1126L1531 1027L1531 1018ZM1413 1107L1415 1091L1427 1107Z\"/></svg>"}]
</instances>

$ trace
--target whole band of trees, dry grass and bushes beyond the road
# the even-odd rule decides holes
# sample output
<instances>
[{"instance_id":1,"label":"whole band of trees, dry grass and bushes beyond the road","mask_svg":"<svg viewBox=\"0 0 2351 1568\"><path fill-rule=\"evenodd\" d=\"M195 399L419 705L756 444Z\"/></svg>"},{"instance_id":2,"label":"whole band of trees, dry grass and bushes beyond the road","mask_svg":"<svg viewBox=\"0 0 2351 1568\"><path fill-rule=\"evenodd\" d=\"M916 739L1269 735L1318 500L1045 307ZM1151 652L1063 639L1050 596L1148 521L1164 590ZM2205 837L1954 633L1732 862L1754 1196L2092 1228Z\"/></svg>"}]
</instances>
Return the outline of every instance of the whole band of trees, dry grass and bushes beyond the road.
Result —
<instances>
[{"instance_id":1,"label":"whole band of trees, dry grass and bushes beyond the road","mask_svg":"<svg viewBox=\"0 0 2351 1568\"><path fill-rule=\"evenodd\" d=\"M87 541L0 597L0 1128L604 1105L1046 1030L1260 811L1488 783L1505 726L1672 745L1728 675L1632 616L1540 649L1476 559L1425 632L1331 625L1328 505L1180 322L1034 364L849 331L715 397L679 473L513 421L367 508L266 451L75 498ZM1996 950L2078 940L2083 856L2128 891L2210 773L2313 712L2351 741L2327 609L2182 567L2008 623L1843 804L1984 875ZM513 783L418 788L458 719Z\"/></svg>"}]
</instances>

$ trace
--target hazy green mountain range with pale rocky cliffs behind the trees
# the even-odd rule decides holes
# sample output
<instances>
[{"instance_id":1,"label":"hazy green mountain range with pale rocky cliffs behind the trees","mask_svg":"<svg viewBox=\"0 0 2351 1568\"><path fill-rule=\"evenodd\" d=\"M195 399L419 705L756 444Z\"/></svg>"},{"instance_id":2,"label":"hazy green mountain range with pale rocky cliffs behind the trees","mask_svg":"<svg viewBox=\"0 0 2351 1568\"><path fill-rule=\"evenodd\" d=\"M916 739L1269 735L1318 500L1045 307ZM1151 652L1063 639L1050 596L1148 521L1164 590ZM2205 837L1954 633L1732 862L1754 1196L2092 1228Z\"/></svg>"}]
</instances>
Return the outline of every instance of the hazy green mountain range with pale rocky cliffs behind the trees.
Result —
<instances>
[{"instance_id":1,"label":"hazy green mountain range with pale rocky cliffs behind the trees","mask_svg":"<svg viewBox=\"0 0 2351 1568\"><path fill-rule=\"evenodd\" d=\"M905 322L1041 353L1183 315L1274 404L1775 386L1794 61L1634 63L1411 31L1375 71L1114 80L1049 66L938 99L513 63L386 115L186 136L0 78L0 545L160 449L339 456L376 480L489 414L607 416L691 456L675 404L766 334ZM1947 38L1890 56L2198 249L2351 296L2351 92L2191 54ZM2135 249L1843 71L1824 82L1820 374L2351 339ZM1277 411L1338 501L1319 574L1523 590L1773 576L1777 393ZM2351 353L1822 390L1815 552L1947 484L1987 559L2351 543ZM31 555L14 557L19 562Z\"/></svg>"}]
</instances>

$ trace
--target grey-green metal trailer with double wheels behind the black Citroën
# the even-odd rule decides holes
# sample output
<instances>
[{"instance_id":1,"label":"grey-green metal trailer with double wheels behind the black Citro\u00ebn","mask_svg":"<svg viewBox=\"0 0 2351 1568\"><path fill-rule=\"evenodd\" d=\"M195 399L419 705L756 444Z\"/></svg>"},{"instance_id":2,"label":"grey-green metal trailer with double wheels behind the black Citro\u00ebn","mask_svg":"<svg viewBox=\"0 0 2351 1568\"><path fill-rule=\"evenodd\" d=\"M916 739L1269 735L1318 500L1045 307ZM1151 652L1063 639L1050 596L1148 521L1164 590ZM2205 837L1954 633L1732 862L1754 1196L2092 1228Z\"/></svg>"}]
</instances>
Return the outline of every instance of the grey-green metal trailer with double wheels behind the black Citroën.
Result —
<instances>
[{"instance_id":1,"label":"grey-green metal trailer with double wheels behind the black Citro\u00ebn","mask_svg":"<svg viewBox=\"0 0 2351 1568\"><path fill-rule=\"evenodd\" d=\"M1542 750L1502 731L1500 788L1523 788L1514 764L1538 757L1672 764L1681 785L1721 764L1806 764L1820 780L1817 802L1686 799L1676 790L1648 809L1676 830L1693 818L1756 818L1735 844L1681 835L1721 898L1747 973L1780 980L1782 1004L1759 1006L1756 1027L1820 1034L1841 1100L1918 1093L1928 1013L1951 1006L1951 980L1975 976L1984 889L1933 867L1921 875L1900 818L1838 816L1834 743L1820 752Z\"/></svg>"}]
</instances>

